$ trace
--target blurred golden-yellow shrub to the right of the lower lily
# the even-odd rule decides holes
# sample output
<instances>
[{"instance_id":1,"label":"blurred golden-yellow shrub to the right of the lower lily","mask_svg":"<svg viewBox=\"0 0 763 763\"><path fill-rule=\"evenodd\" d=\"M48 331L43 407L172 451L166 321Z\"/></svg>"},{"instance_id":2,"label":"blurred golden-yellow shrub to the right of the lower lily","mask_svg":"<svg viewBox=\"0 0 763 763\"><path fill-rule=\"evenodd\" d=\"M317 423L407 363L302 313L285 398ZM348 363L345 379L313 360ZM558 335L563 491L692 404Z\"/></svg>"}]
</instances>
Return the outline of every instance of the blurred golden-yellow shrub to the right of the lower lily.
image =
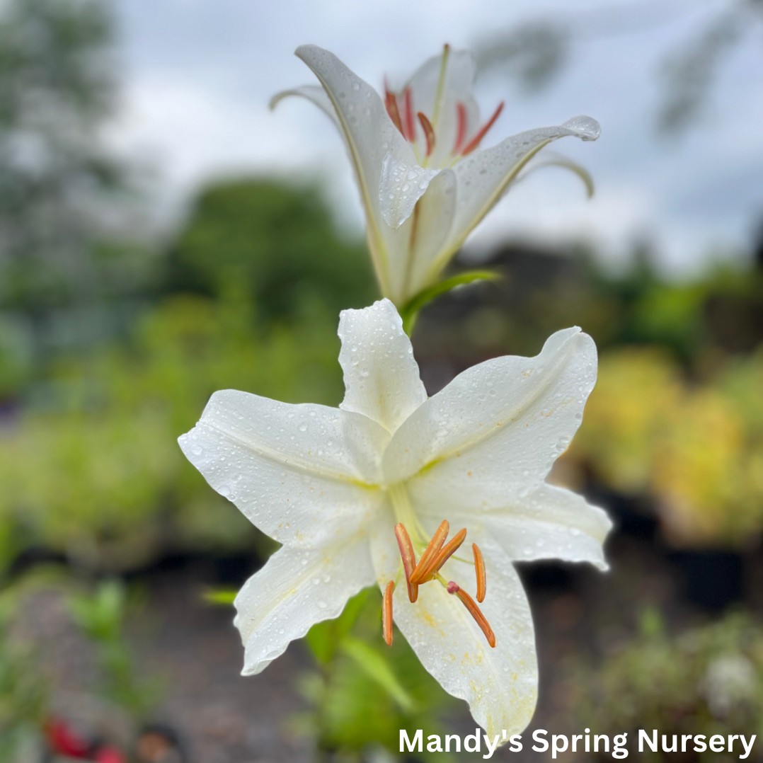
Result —
<instances>
[{"instance_id":1,"label":"blurred golden-yellow shrub to the right of the lower lily","mask_svg":"<svg viewBox=\"0 0 763 763\"><path fill-rule=\"evenodd\" d=\"M654 348L604 353L568 458L625 494L651 494L683 545L758 542L763 530L763 348L707 381Z\"/></svg>"}]
</instances>

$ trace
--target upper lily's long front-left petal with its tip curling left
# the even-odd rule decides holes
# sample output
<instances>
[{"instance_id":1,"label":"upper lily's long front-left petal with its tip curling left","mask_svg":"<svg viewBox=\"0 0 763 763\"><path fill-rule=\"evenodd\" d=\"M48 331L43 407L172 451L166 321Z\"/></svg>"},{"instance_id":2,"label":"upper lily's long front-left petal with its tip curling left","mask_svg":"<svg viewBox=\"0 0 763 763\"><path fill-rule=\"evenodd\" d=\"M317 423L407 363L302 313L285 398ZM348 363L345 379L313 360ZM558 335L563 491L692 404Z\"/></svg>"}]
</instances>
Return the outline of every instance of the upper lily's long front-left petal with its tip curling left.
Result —
<instances>
[{"instance_id":1,"label":"upper lily's long front-left petal with its tip curling left","mask_svg":"<svg viewBox=\"0 0 763 763\"><path fill-rule=\"evenodd\" d=\"M339 118L358 179L381 290L385 295L396 296L389 282L388 250L397 249L398 240L381 218L378 198L381 163L390 153L398 162L414 165L414 150L392 124L378 93L336 56L314 45L302 45L296 54L320 80Z\"/></svg>"}]
</instances>

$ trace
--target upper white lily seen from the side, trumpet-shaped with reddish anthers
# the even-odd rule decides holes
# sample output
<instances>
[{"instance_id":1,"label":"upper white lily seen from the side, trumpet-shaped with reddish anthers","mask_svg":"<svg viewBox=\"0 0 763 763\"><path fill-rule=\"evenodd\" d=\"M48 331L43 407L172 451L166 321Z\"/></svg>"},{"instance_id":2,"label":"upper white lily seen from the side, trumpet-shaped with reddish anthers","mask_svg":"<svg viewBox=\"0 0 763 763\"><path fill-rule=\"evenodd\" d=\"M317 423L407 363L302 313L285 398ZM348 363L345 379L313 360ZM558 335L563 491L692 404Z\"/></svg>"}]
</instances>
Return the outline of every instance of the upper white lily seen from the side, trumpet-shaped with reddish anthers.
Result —
<instances>
[{"instance_id":1,"label":"upper white lily seen from the side, trumpet-shaped with reddish anthers","mask_svg":"<svg viewBox=\"0 0 763 763\"><path fill-rule=\"evenodd\" d=\"M332 53L303 45L297 56L317 85L278 93L308 98L339 127L353 161L382 294L403 307L437 282L468 233L533 156L560 137L596 140L597 121L575 117L478 150L501 112L480 123L472 94L475 63L445 47L399 94L378 93Z\"/></svg>"}]
</instances>

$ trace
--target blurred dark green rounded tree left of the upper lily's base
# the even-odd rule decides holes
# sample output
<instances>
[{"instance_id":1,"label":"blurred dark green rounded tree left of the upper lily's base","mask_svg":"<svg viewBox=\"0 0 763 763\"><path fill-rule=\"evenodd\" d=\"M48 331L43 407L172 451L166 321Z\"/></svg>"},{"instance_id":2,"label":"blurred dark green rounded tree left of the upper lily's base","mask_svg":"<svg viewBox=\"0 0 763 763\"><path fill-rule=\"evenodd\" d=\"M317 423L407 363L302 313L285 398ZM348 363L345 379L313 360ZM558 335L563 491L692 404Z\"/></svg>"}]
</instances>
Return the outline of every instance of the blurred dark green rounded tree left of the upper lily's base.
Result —
<instances>
[{"instance_id":1,"label":"blurred dark green rounded tree left of the upper lily's base","mask_svg":"<svg viewBox=\"0 0 763 763\"><path fill-rule=\"evenodd\" d=\"M343 240L317 188L240 179L205 188L172 245L166 288L248 291L263 319L330 314L375 298L360 242Z\"/></svg>"}]
</instances>

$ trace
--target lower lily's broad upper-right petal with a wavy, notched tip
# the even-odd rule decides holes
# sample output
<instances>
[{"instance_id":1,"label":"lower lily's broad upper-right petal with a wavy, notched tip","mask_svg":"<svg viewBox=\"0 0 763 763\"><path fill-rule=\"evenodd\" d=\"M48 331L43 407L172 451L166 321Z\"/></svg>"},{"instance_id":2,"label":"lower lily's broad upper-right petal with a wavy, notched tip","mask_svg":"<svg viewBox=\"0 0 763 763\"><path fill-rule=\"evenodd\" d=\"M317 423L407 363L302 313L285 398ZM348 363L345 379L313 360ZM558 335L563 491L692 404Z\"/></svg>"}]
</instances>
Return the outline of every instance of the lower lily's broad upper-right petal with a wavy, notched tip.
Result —
<instances>
[{"instance_id":1,"label":"lower lily's broad upper-right petal with a wavy, notched tip","mask_svg":"<svg viewBox=\"0 0 763 763\"><path fill-rule=\"evenodd\" d=\"M385 480L422 470L431 485L471 479L491 501L510 497L507 485L536 487L580 426L596 362L594 341L575 327L550 336L534 358L504 356L467 369L394 433Z\"/></svg>"}]
</instances>

